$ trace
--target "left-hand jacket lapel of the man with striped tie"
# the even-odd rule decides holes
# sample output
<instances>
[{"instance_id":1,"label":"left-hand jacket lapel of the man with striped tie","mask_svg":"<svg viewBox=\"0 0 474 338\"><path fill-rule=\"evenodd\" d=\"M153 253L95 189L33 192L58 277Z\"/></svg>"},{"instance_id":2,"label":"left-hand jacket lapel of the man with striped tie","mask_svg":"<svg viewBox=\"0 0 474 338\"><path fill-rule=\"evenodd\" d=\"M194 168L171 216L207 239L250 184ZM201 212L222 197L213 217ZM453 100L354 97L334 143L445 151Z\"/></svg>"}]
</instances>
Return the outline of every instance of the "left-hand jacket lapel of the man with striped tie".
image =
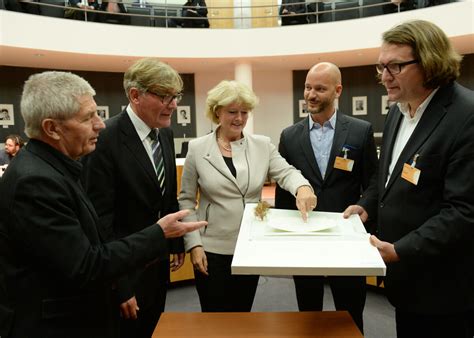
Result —
<instances>
[{"instance_id":1,"label":"left-hand jacket lapel of the man with striped tie","mask_svg":"<svg viewBox=\"0 0 474 338\"><path fill-rule=\"evenodd\" d=\"M155 168L150 161L143 143L138 137L137 131L133 127L132 121L126 112L122 112L122 117L119 121L119 127L121 131L122 143L125 148L130 151L130 156L135 158L137 163L150 178L150 180L155 185L157 191L159 191L158 178L156 177Z\"/></svg>"}]
</instances>

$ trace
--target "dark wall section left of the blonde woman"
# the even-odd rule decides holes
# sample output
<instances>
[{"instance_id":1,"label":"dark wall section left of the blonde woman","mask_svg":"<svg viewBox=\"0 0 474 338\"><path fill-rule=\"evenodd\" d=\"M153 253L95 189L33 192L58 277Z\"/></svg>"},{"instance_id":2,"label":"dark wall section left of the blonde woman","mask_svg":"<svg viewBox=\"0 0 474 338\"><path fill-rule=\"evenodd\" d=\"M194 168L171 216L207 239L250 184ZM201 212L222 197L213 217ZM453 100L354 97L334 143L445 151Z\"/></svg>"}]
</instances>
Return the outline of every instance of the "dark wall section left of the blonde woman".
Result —
<instances>
[{"instance_id":1,"label":"dark wall section left of the blonde woman","mask_svg":"<svg viewBox=\"0 0 474 338\"><path fill-rule=\"evenodd\" d=\"M0 126L0 143L9 134L19 134L25 137L23 118L20 114L20 100L23 84L31 74L46 71L47 69L23 68L23 67L0 67L0 104L13 104L15 114L15 125L3 128ZM122 106L128 104L123 90L123 74L108 72L85 72L73 71L75 74L85 78L96 91L94 97L98 106L109 107L109 117L122 111ZM172 128L175 137L196 137L196 100L194 91L194 74L181 74L184 81L184 96L179 103L180 106L190 106L191 123L183 126L177 124L176 114L173 114Z\"/></svg>"}]
</instances>

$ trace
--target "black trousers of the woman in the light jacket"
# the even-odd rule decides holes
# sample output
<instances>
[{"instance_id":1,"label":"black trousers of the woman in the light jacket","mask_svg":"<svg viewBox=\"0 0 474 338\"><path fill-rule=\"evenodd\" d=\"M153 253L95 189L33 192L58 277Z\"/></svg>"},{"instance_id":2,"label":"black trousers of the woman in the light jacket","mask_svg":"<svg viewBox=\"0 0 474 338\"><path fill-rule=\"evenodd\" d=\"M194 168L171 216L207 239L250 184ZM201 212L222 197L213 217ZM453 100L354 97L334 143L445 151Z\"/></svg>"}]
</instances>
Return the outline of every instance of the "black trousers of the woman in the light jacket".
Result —
<instances>
[{"instance_id":1,"label":"black trousers of the woman in the light jacket","mask_svg":"<svg viewBox=\"0 0 474 338\"><path fill-rule=\"evenodd\" d=\"M202 312L249 312L257 291L255 275L232 275L232 255L206 252L208 273L195 271Z\"/></svg>"}]
</instances>

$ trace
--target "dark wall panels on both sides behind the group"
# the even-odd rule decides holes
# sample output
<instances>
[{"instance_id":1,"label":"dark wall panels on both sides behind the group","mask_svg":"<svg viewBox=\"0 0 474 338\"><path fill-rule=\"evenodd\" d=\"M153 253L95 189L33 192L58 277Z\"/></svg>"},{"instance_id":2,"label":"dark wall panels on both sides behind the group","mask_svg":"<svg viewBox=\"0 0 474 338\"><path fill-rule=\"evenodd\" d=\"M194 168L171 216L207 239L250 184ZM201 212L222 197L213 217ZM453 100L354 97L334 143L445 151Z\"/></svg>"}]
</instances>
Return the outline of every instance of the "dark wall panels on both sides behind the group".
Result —
<instances>
[{"instance_id":1,"label":"dark wall panels on both sides behind the group","mask_svg":"<svg viewBox=\"0 0 474 338\"><path fill-rule=\"evenodd\" d=\"M22 68L22 67L0 67L0 104L13 104L15 113L15 125L3 128L0 126L0 143L9 134L23 133L24 123L20 114L21 91L24 82L31 74L45 71L45 69ZM108 106L110 117L118 114L121 107L128 103L122 87L122 73L108 72L85 72L74 71L84 77L95 88L97 95L95 100L98 106ZM293 71L293 119L295 122L301 120L299 117L299 103L303 99L304 82L307 70ZM381 114L381 97L386 95L385 89L375 77L374 66L341 68L343 92L339 98L339 109L341 112L352 115L352 97L367 96L367 115L358 115L358 118L370 121L375 132L382 132L385 115ZM194 74L181 74L184 81L184 97L180 106L190 106L191 123L183 126L177 124L177 114L173 115L172 128L175 137L196 137L196 101ZM474 90L474 54L465 55L461 68L461 76L458 81Z\"/></svg>"}]
</instances>

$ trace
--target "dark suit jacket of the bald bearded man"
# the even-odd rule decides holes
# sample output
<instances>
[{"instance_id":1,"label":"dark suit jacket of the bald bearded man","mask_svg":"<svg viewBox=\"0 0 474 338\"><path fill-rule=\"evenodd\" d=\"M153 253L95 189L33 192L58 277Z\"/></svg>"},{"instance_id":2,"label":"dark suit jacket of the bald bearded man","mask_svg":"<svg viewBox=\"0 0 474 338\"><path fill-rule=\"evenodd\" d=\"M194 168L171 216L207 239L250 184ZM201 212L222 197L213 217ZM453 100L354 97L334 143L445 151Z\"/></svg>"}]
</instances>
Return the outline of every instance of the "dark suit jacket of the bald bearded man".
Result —
<instances>
[{"instance_id":1,"label":"dark suit jacket of the bald bearded man","mask_svg":"<svg viewBox=\"0 0 474 338\"><path fill-rule=\"evenodd\" d=\"M334 168L336 156L344 156L343 146L350 147L347 157L354 160L352 172ZM372 126L341 112L337 113L336 130L324 180L311 147L308 118L283 130L279 151L311 183L318 197L318 211L344 211L347 206L360 199L362 191L375 179L377 153ZM277 186L275 206L296 209L295 198Z\"/></svg>"}]
</instances>

